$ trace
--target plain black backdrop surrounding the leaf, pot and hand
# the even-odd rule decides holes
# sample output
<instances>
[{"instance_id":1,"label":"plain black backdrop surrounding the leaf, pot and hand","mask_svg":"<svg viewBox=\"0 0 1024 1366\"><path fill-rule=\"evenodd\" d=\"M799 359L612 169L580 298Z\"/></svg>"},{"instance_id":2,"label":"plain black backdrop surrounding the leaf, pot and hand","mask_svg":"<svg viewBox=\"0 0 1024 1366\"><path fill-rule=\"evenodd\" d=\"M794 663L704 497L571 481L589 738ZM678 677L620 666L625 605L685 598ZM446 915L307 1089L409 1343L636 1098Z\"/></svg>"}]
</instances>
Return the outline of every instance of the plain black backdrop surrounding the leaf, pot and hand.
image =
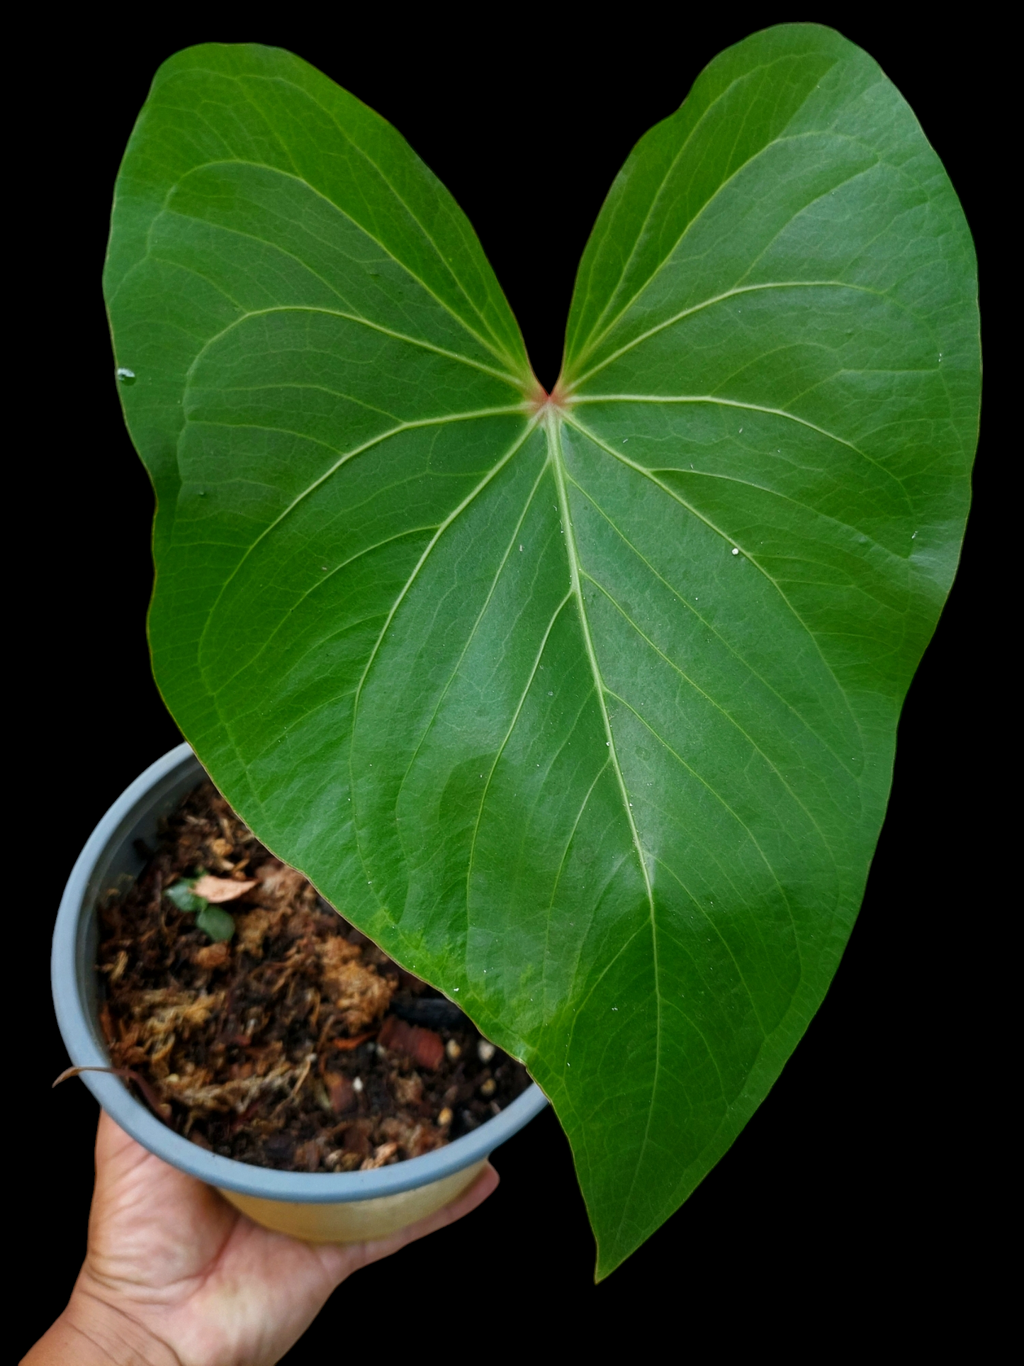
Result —
<instances>
[{"instance_id":1,"label":"plain black backdrop surrounding the leaf, pot and hand","mask_svg":"<svg viewBox=\"0 0 1024 1366\"><path fill-rule=\"evenodd\" d=\"M15 1161L26 1191L41 1194L18 1228L26 1283L8 1322L19 1350L66 1303L91 1188L94 1102L78 1083L49 1090L67 1063L49 1004L53 915L96 821L179 740L149 673L152 497L122 423L100 295L113 178L160 61L208 40L279 44L390 119L467 210L550 388L575 265L636 138L728 44L791 18L830 23L881 61L945 161L987 302L993 36L978 26L938 33L829 4L721 20L642 4L563 20L490 7L411 25L385 5L358 25L332 15L161 23L112 11L46 34L25 86L33 171L16 206L25 236L14 260L26 279L14 284L27 284L31 358L12 382L27 496L11 531L25 537L15 658L27 687L12 738L30 742L31 759L12 772L26 882L8 884L7 908L30 1046L11 1056L8 1096L12 1115L29 1117L27 1130L15 1126ZM837 1348L896 1347L919 1340L926 1321L963 1315L976 1251L961 1221L982 1199L976 1172L991 1146L982 1115L998 1104L978 1055L994 1005L980 963L999 910L987 755L1004 675L986 615L1001 576L999 452L987 411L961 568L900 724L860 919L818 1018L729 1154L595 1287L568 1145L546 1112L497 1153L502 1184L486 1206L344 1284L288 1363L367 1350L461 1361L584 1340L599 1355L620 1341L640 1351L661 1341L674 1355L747 1336L827 1359L822 1330Z\"/></svg>"}]
</instances>

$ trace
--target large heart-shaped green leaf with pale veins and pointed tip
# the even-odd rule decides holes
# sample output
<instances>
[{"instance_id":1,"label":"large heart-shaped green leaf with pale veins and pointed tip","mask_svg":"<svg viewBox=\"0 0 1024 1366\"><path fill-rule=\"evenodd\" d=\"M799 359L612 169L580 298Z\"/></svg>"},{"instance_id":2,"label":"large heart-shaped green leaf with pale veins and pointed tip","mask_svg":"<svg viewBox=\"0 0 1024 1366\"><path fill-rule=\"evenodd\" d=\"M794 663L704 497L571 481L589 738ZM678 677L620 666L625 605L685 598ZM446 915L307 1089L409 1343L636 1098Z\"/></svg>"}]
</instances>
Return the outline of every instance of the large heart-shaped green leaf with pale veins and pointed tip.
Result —
<instances>
[{"instance_id":1,"label":"large heart-shaped green leaf with pale veins and pointed tip","mask_svg":"<svg viewBox=\"0 0 1024 1366\"><path fill-rule=\"evenodd\" d=\"M606 1273L765 1097L860 903L976 434L942 167L838 34L729 49L612 187L542 403L401 137L201 46L132 134L106 296L171 710L527 1063Z\"/></svg>"}]
</instances>

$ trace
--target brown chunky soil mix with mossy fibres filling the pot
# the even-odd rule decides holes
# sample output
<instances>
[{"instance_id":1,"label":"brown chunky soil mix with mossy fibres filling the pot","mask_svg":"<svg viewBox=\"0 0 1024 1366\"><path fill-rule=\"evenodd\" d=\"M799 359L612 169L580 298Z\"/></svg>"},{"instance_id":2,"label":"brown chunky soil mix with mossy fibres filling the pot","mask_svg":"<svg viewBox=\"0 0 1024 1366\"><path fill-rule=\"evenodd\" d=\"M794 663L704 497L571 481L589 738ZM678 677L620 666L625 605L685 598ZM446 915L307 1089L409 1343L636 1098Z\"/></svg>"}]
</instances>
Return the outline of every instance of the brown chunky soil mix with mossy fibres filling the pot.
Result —
<instances>
[{"instance_id":1,"label":"brown chunky soil mix with mossy fibres filling the pot","mask_svg":"<svg viewBox=\"0 0 1024 1366\"><path fill-rule=\"evenodd\" d=\"M530 1085L269 854L210 783L142 852L138 881L100 910L100 1019L112 1065L143 1076L194 1143L257 1167L366 1171L477 1128ZM194 878L233 921L229 941L177 904Z\"/></svg>"}]
</instances>

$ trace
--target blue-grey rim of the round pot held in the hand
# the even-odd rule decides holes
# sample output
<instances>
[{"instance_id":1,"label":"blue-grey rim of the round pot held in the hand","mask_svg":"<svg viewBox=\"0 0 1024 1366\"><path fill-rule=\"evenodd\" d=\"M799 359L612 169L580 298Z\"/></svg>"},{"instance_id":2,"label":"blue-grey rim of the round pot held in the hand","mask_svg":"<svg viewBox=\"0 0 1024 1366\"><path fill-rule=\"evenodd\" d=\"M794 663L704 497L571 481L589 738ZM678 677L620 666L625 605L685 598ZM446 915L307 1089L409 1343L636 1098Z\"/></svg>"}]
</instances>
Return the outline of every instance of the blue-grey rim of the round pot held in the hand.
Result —
<instances>
[{"instance_id":1,"label":"blue-grey rim of the round pot held in the hand","mask_svg":"<svg viewBox=\"0 0 1024 1366\"><path fill-rule=\"evenodd\" d=\"M75 1067L109 1067L97 1024L89 1018L79 989L79 926L82 912L89 908L86 895L90 877L106 848L122 833L122 826L127 826L138 814L150 790L188 759L194 759L194 754L191 746L186 743L150 764L102 817L67 880L53 929L51 982L57 1024ZM188 1172L190 1176L242 1195L314 1205L395 1195L451 1176L487 1157L547 1104L546 1096L534 1083L494 1119L423 1157L412 1157L373 1172L279 1172L209 1153L182 1138L137 1101L117 1076L83 1072L82 1081L127 1134L150 1153Z\"/></svg>"}]
</instances>

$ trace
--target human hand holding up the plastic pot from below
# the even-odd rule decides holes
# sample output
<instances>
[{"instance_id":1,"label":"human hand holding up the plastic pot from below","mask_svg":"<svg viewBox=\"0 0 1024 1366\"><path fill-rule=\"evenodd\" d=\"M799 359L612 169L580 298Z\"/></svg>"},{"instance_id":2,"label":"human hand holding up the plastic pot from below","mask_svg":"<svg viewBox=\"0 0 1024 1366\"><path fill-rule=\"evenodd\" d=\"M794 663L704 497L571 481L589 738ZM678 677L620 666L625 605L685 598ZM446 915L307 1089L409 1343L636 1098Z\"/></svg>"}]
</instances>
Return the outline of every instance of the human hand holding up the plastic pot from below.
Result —
<instances>
[{"instance_id":1,"label":"human hand holding up the plastic pot from below","mask_svg":"<svg viewBox=\"0 0 1024 1366\"><path fill-rule=\"evenodd\" d=\"M270 1366L347 1276L468 1214L497 1184L487 1164L457 1201L390 1238L300 1243L259 1228L101 1113L86 1259L25 1366Z\"/></svg>"}]
</instances>

